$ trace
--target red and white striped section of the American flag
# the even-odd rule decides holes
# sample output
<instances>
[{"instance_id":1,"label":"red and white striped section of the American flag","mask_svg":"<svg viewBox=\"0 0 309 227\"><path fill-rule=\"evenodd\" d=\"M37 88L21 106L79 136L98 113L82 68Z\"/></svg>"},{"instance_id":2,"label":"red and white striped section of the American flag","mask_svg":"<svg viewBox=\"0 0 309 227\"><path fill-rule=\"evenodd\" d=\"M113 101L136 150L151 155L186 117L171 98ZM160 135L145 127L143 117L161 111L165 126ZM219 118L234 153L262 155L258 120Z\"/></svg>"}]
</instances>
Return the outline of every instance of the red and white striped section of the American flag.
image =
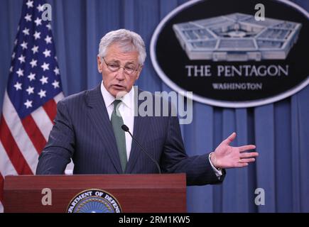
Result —
<instances>
[{"instance_id":1,"label":"red and white striped section of the American flag","mask_svg":"<svg viewBox=\"0 0 309 227\"><path fill-rule=\"evenodd\" d=\"M61 92L54 99L19 118L7 92L0 123L0 212L3 211L3 184L6 175L33 175L48 135L53 128L56 105L63 99Z\"/></svg>"}]
</instances>

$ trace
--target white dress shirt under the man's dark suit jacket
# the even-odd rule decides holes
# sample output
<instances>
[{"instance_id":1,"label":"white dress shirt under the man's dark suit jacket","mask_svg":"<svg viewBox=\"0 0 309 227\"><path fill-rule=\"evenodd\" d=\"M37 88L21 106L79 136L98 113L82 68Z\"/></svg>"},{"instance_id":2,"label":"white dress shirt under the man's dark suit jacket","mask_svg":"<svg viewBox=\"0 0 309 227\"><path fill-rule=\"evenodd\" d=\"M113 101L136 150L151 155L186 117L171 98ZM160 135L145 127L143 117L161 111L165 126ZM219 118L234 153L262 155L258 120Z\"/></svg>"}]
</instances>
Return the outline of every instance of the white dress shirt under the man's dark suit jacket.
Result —
<instances>
[{"instance_id":1,"label":"white dress shirt under the man's dark suit jacket","mask_svg":"<svg viewBox=\"0 0 309 227\"><path fill-rule=\"evenodd\" d=\"M107 89L104 87L103 82L101 83L101 93L104 99L105 106L107 107L107 113L109 114L109 121L111 120L112 113L114 111L114 100L115 97L112 96ZM128 126L130 132L133 134L134 130L134 88L121 98L121 103L119 106L119 112L124 124ZM124 134L126 136L126 159L129 160L131 153L132 138L129 133Z\"/></svg>"}]
</instances>

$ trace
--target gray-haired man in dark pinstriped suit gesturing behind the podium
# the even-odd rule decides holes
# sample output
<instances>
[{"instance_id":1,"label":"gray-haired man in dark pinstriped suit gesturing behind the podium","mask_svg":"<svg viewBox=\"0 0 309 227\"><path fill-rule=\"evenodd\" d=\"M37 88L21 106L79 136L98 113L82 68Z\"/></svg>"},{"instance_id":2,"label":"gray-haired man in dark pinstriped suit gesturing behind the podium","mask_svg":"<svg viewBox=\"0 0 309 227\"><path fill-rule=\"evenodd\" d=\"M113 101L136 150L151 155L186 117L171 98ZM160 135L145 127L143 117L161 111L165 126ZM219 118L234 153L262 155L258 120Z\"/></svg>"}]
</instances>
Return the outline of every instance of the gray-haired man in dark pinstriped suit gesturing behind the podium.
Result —
<instances>
[{"instance_id":1,"label":"gray-haired man in dark pinstriped suit gesturing behind the podium","mask_svg":"<svg viewBox=\"0 0 309 227\"><path fill-rule=\"evenodd\" d=\"M97 56L102 83L58 102L55 126L39 157L37 175L63 174L71 158L74 174L157 173L156 164L122 130L123 124L159 163L162 172L185 172L188 185L222 182L224 168L254 162L258 153L246 152L254 145L229 145L236 133L214 152L188 157L177 116L136 114L134 96L141 91L133 85L145 58L140 35L124 29L104 35Z\"/></svg>"}]
</instances>

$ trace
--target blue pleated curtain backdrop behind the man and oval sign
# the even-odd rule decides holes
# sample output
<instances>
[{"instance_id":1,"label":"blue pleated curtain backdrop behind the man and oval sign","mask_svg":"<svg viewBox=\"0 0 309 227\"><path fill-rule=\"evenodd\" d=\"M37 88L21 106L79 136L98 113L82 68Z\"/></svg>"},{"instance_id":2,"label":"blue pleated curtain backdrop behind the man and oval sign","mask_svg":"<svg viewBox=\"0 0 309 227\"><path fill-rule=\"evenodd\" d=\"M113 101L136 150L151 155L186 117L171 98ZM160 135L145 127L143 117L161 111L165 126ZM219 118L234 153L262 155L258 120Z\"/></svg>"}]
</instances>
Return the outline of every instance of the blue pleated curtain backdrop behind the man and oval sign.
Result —
<instances>
[{"instance_id":1,"label":"blue pleated curtain backdrop behind the man and oval sign","mask_svg":"<svg viewBox=\"0 0 309 227\"><path fill-rule=\"evenodd\" d=\"M158 23L184 2L48 1L53 7L53 35L65 95L90 89L101 81L96 55L104 33L118 28L136 31L149 49ZM308 0L294 2L309 11ZM22 0L0 0L0 111L21 4ZM151 92L170 91L153 70L149 57L137 85ZM181 126L189 155L213 150L236 131L234 145L254 143L260 156L248 168L227 170L222 185L188 187L188 211L309 211L309 87L274 104L249 109L218 108L194 102L193 114L193 123ZM256 188L265 190L264 206L254 204Z\"/></svg>"}]
</instances>

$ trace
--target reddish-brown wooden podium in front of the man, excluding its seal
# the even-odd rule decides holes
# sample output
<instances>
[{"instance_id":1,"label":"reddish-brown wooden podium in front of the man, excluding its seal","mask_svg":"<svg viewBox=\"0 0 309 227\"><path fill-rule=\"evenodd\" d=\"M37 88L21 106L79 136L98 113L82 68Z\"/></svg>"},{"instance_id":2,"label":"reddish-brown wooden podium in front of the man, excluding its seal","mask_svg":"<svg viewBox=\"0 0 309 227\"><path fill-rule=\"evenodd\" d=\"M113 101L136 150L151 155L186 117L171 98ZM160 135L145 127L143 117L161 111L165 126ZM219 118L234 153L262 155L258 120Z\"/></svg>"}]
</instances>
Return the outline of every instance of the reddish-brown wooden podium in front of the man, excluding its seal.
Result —
<instances>
[{"instance_id":1,"label":"reddish-brown wooden podium in front of the man, excluding its seal","mask_svg":"<svg viewBox=\"0 0 309 227\"><path fill-rule=\"evenodd\" d=\"M43 205L43 189L50 189L51 205ZM6 176L4 212L63 213L87 189L112 194L125 213L186 212L185 174Z\"/></svg>"}]
</instances>

